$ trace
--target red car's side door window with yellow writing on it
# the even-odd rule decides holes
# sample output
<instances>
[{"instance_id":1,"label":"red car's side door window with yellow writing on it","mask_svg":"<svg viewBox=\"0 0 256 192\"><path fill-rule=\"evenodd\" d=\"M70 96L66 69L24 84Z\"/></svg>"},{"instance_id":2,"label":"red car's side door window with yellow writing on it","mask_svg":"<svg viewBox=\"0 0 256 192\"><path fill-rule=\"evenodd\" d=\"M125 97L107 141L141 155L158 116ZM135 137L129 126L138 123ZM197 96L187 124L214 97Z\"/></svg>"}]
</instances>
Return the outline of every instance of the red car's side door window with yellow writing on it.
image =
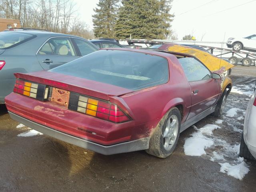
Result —
<instances>
[{"instance_id":1,"label":"red car's side door window with yellow writing on it","mask_svg":"<svg viewBox=\"0 0 256 192\"><path fill-rule=\"evenodd\" d=\"M192 57L178 59L188 81L200 81L211 78L210 71L198 60Z\"/></svg>"}]
</instances>

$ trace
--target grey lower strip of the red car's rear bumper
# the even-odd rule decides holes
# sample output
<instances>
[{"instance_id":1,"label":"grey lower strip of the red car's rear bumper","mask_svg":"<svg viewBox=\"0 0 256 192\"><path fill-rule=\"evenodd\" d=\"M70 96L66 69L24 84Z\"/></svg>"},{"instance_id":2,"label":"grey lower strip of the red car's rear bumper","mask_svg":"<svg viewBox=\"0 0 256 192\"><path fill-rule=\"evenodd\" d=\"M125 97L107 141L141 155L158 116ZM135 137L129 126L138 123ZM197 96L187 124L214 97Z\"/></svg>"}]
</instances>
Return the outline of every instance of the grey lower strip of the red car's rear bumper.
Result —
<instances>
[{"instance_id":1,"label":"grey lower strip of the red car's rear bumper","mask_svg":"<svg viewBox=\"0 0 256 192\"><path fill-rule=\"evenodd\" d=\"M26 118L23 118L17 114L14 114L9 111L10 117L13 120L16 120L34 130L37 130L43 134L49 135L53 138L58 140L62 140L64 142L74 144L76 146L86 148L88 150L92 150L94 152L104 154L104 155L111 155L111 154L118 154L118 153L125 153L125 152L132 152L138 150L148 149L149 144L149 137L142 138L130 142L119 143L111 146L103 146L94 142L90 142L88 140L84 140L82 138L77 138L72 135L48 128L42 124L38 124Z\"/></svg>"}]
</instances>

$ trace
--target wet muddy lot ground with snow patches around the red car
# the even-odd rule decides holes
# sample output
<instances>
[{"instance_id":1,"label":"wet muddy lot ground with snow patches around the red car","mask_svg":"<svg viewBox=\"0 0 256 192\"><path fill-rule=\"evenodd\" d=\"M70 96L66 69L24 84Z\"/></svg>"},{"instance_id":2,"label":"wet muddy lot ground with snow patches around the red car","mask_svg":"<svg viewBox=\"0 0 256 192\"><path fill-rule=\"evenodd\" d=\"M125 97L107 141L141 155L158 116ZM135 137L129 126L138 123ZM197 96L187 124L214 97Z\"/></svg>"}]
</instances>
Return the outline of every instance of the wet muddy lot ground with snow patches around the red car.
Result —
<instances>
[{"instance_id":1,"label":"wet muddy lot ground with snow patches around the red car","mask_svg":"<svg viewBox=\"0 0 256 192\"><path fill-rule=\"evenodd\" d=\"M144 151L104 156L37 135L0 106L0 191L254 191L256 162L237 152L255 74L256 67L236 66L225 114L182 132L166 159Z\"/></svg>"}]
</instances>

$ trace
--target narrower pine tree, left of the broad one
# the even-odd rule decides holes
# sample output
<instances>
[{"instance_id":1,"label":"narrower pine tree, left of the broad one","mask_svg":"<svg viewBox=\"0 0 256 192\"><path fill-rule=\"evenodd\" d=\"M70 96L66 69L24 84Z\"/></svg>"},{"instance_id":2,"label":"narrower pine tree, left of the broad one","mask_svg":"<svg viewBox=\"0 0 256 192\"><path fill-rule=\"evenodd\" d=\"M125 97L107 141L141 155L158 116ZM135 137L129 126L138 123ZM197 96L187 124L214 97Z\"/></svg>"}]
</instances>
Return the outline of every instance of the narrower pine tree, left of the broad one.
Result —
<instances>
[{"instance_id":1,"label":"narrower pine tree, left of the broad one","mask_svg":"<svg viewBox=\"0 0 256 192\"><path fill-rule=\"evenodd\" d=\"M115 38L115 24L119 0L99 0L92 15L94 36Z\"/></svg>"}]
</instances>

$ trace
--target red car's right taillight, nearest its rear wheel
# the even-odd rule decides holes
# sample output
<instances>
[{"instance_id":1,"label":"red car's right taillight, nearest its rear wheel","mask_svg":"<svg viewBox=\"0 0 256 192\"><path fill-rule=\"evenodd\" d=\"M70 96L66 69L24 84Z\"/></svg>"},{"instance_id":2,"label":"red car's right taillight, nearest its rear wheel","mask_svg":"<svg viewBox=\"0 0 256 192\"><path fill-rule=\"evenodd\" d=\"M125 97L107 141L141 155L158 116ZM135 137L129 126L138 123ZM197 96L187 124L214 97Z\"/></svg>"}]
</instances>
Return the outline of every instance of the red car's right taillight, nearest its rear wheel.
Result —
<instances>
[{"instance_id":1,"label":"red car's right taillight, nearest its rear wheel","mask_svg":"<svg viewBox=\"0 0 256 192\"><path fill-rule=\"evenodd\" d=\"M70 92L68 109L115 123L130 120L117 105Z\"/></svg>"}]
</instances>

